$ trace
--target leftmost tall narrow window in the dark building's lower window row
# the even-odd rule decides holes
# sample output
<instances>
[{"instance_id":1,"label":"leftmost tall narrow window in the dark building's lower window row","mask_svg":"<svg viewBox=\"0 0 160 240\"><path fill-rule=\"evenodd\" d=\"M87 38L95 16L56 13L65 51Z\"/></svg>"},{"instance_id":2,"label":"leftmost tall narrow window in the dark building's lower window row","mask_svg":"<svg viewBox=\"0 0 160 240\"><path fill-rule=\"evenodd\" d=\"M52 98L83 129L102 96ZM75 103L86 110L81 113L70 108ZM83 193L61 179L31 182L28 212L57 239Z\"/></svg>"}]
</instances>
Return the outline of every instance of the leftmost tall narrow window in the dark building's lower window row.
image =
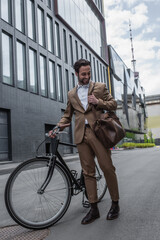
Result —
<instances>
[{"instance_id":1,"label":"leftmost tall narrow window in the dark building's lower window row","mask_svg":"<svg viewBox=\"0 0 160 240\"><path fill-rule=\"evenodd\" d=\"M2 72L3 82L13 85L12 38L2 33Z\"/></svg>"}]
</instances>

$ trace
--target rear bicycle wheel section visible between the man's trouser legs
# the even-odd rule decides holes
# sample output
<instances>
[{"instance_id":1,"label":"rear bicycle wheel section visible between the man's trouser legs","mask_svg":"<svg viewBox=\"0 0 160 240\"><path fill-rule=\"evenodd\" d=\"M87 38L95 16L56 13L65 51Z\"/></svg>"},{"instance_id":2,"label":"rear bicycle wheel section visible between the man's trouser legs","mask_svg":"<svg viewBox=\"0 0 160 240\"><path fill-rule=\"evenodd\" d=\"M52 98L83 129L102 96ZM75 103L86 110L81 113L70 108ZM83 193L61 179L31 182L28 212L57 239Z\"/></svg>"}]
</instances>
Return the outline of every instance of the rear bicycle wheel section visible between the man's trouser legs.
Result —
<instances>
[{"instance_id":1,"label":"rear bicycle wheel section visible between the man's trouser legs","mask_svg":"<svg viewBox=\"0 0 160 240\"><path fill-rule=\"evenodd\" d=\"M96 176L95 177L97 180L98 202L100 202L107 191L107 184L106 184L106 180L103 175L103 172L97 162L96 162Z\"/></svg>"}]
</instances>

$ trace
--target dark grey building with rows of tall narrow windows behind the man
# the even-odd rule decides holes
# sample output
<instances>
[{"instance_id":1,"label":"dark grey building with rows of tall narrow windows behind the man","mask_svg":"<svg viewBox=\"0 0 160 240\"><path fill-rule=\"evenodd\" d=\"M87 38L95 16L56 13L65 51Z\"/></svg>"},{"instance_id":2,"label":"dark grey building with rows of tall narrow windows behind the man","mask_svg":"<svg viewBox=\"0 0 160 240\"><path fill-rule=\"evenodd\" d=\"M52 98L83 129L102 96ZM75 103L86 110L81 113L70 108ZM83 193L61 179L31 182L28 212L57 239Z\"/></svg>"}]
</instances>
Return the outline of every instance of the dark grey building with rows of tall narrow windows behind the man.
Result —
<instances>
[{"instance_id":1,"label":"dark grey building with rows of tall narrow windows behind the man","mask_svg":"<svg viewBox=\"0 0 160 240\"><path fill-rule=\"evenodd\" d=\"M0 1L0 160L23 161L34 156L45 132L59 121L66 107L67 91L76 84L73 63L78 58L91 61L93 81L107 84L102 1L69 2L79 19L80 12L88 11L83 15L90 19L86 25L90 26L94 16L98 50L86 37L93 34L93 26L84 29L66 23L57 15L59 0ZM87 9L76 7L78 2ZM63 153L69 152L72 149Z\"/></svg>"}]
</instances>

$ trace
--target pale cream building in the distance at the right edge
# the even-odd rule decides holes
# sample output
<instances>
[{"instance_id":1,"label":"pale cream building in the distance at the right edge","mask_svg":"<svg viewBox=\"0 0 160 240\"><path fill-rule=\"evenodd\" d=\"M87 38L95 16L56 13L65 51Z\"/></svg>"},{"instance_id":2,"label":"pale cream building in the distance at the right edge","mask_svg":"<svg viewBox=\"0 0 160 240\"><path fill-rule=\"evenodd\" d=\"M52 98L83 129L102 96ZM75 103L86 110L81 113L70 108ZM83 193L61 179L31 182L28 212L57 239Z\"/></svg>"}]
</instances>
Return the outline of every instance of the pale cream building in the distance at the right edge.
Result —
<instances>
[{"instance_id":1,"label":"pale cream building in the distance at the right edge","mask_svg":"<svg viewBox=\"0 0 160 240\"><path fill-rule=\"evenodd\" d=\"M160 145L160 95L146 96L147 128L155 144Z\"/></svg>"}]
</instances>

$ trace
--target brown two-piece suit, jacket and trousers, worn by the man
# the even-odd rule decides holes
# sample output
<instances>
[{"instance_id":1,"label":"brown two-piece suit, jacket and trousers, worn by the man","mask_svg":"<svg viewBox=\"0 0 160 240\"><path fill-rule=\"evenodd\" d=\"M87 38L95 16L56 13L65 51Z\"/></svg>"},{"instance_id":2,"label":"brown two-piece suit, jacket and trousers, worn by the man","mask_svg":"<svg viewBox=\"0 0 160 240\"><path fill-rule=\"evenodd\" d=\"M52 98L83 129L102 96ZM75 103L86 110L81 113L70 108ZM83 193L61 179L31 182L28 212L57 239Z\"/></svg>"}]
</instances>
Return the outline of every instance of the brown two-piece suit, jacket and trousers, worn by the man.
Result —
<instances>
[{"instance_id":1,"label":"brown two-piece suit, jacket and trousers, worn by the man","mask_svg":"<svg viewBox=\"0 0 160 240\"><path fill-rule=\"evenodd\" d=\"M95 83L93 90L93 82L90 81L88 95L90 95L92 91L95 97L99 100L96 106L97 118L103 110L116 109L117 103L107 91L104 83ZM92 112L92 105L89 104L86 111L84 110L77 95L77 87L68 92L67 108L59 124L70 123L73 113L75 113L74 139L80 155L89 201L90 203L97 201L96 181L94 178L95 155L97 156L99 165L104 172L111 198L112 200L117 201L119 199L118 184L115 167L111 160L111 152L101 144L92 131L92 125L96 120L95 114ZM89 123L89 128L85 126L85 119L87 119Z\"/></svg>"}]
</instances>

